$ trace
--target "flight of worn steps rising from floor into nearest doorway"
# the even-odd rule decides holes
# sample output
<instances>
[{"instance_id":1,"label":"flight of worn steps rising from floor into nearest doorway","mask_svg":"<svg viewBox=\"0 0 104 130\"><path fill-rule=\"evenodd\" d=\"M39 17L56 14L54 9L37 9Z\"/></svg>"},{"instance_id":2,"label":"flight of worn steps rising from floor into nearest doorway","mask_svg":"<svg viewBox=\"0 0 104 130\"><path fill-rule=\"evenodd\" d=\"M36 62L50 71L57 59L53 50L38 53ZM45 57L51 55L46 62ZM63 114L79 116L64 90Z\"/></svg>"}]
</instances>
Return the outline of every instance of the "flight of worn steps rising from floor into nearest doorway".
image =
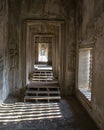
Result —
<instances>
[{"instance_id":1,"label":"flight of worn steps rising from floor into nearest doorway","mask_svg":"<svg viewBox=\"0 0 104 130\"><path fill-rule=\"evenodd\" d=\"M61 99L57 79L52 70L36 70L29 75L30 83L25 93L25 102L56 102Z\"/></svg>"}]
</instances>

